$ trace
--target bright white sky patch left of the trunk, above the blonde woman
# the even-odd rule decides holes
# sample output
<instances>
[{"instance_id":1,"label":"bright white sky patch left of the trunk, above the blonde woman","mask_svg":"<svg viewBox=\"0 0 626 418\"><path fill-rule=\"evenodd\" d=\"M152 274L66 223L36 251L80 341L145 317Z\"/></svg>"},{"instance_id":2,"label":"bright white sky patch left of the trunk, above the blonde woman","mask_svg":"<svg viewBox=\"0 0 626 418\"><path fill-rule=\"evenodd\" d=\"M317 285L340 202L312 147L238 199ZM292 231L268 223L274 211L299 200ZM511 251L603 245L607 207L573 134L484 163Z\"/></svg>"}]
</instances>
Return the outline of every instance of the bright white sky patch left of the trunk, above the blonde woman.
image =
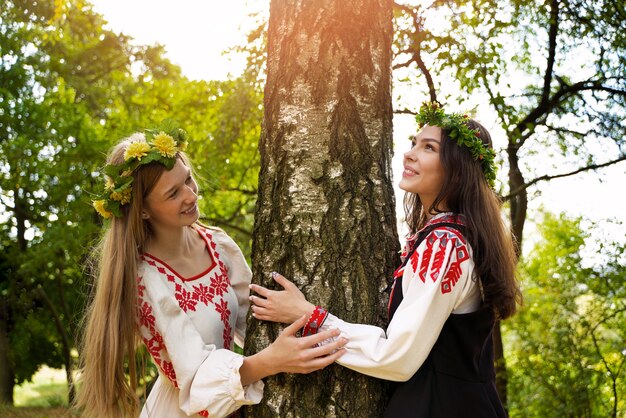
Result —
<instances>
[{"instance_id":1,"label":"bright white sky patch left of the trunk, above the blonde woman","mask_svg":"<svg viewBox=\"0 0 626 418\"><path fill-rule=\"evenodd\" d=\"M239 75L245 59L228 48L243 45L254 24L253 12L265 12L269 1L248 0L91 0L94 10L115 32L139 44L164 45L167 57L191 79L223 80Z\"/></svg>"}]
</instances>

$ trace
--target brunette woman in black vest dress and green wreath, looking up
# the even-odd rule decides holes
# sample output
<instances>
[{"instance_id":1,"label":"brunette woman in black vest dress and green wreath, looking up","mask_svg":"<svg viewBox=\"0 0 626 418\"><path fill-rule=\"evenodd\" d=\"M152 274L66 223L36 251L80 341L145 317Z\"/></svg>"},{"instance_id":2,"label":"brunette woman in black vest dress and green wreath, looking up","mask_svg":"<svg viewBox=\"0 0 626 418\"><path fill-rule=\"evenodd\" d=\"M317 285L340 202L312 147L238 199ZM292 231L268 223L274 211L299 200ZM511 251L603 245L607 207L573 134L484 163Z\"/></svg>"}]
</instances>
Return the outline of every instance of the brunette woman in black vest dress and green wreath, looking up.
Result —
<instances>
[{"instance_id":1,"label":"brunette woman in black vest dress and green wreath, looking up","mask_svg":"<svg viewBox=\"0 0 626 418\"><path fill-rule=\"evenodd\" d=\"M514 242L493 191L491 137L437 103L424 104L417 120L400 181L410 236L387 328L345 322L277 274L285 290L252 285L259 295L251 297L253 315L279 322L309 315L305 335L339 328L349 339L339 364L396 382L385 416L504 418L492 331L521 296Z\"/></svg>"}]
</instances>

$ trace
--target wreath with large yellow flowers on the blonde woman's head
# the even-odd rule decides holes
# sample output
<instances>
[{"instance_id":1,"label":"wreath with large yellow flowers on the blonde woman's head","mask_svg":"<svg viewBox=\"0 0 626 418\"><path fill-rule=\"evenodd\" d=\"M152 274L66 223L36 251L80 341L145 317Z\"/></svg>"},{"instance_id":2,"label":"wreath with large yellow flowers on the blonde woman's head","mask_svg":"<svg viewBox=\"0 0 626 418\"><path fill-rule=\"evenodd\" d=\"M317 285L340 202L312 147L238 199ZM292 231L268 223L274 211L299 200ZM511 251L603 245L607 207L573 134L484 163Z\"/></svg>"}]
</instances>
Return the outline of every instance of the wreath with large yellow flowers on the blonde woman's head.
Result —
<instances>
[{"instance_id":1,"label":"wreath with large yellow flowers on the blonde woman's head","mask_svg":"<svg viewBox=\"0 0 626 418\"><path fill-rule=\"evenodd\" d=\"M129 204L132 198L132 174L138 167L156 161L171 170L176 164L176 154L187 148L187 132L171 123L144 132L146 141L131 142L124 151L122 164L104 166L104 190L92 204L105 219L122 216L122 206Z\"/></svg>"}]
</instances>

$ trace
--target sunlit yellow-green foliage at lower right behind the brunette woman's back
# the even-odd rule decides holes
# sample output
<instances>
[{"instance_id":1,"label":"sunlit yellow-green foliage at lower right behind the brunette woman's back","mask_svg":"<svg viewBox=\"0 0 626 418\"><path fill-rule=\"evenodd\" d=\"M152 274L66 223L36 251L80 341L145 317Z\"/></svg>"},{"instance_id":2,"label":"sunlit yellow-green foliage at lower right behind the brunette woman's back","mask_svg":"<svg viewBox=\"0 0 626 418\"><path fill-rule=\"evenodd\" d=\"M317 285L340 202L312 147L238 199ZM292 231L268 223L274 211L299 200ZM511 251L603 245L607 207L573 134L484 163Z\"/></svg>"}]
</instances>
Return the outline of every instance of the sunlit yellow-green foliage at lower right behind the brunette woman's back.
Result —
<instances>
[{"instance_id":1,"label":"sunlit yellow-green foliage at lower right behind the brunette woman's back","mask_svg":"<svg viewBox=\"0 0 626 418\"><path fill-rule=\"evenodd\" d=\"M546 214L520 263L525 306L505 328L512 417L626 412L626 251L600 240L596 253L581 223Z\"/></svg>"}]
</instances>

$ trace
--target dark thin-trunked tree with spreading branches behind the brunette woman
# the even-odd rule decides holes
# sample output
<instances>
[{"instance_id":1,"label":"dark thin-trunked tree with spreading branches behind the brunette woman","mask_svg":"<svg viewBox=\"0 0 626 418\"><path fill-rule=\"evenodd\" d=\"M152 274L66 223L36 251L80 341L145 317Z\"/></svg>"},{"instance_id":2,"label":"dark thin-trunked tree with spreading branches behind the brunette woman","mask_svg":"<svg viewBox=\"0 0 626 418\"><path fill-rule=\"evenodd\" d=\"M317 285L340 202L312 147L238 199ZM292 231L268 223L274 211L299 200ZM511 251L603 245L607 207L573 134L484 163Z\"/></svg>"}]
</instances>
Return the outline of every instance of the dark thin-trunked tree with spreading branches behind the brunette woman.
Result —
<instances>
[{"instance_id":1,"label":"dark thin-trunked tree with spreading branches behind the brunette woman","mask_svg":"<svg viewBox=\"0 0 626 418\"><path fill-rule=\"evenodd\" d=\"M396 91L413 86L425 99L469 101L481 105L479 116L496 115L508 168L501 190L520 248L529 191L626 159L623 2L407 2L396 11ZM418 100L409 103L399 112L413 113ZM499 333L495 342L506 403Z\"/></svg>"}]
</instances>

